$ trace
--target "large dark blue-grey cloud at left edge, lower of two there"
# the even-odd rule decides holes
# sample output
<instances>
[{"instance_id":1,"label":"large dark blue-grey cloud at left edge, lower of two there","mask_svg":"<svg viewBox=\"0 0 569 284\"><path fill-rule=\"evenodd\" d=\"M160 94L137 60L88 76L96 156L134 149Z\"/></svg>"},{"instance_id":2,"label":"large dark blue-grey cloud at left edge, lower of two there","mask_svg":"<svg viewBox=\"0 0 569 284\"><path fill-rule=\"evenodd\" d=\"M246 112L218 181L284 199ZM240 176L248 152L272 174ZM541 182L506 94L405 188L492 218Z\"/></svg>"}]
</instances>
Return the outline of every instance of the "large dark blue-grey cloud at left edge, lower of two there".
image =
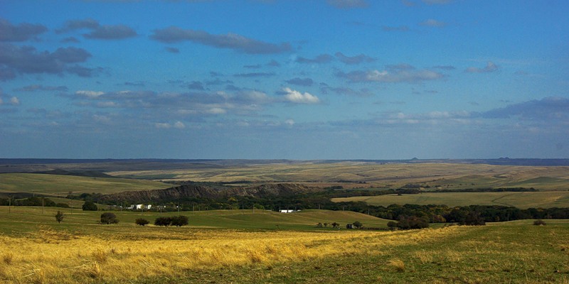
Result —
<instances>
[{"instance_id":1,"label":"large dark blue-grey cloud at left edge, lower of two there","mask_svg":"<svg viewBox=\"0 0 569 284\"><path fill-rule=\"evenodd\" d=\"M76 65L85 62L91 54L83 48L58 48L53 53L38 52L31 46L0 43L0 80L16 77L16 73L59 74L65 72L90 77L94 69Z\"/></svg>"}]
</instances>

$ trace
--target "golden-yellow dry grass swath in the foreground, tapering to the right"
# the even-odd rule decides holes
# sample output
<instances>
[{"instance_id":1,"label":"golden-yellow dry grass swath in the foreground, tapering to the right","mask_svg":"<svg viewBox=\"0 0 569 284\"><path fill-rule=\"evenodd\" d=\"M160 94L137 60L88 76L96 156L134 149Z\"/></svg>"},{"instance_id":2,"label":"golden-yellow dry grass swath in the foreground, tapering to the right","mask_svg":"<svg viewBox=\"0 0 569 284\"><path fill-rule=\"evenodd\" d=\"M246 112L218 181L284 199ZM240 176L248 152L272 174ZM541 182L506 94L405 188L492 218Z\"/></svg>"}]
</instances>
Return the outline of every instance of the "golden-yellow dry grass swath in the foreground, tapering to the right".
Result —
<instances>
[{"instance_id":1,"label":"golden-yellow dry grass swath in the foreground, tapering to the right","mask_svg":"<svg viewBox=\"0 0 569 284\"><path fill-rule=\"evenodd\" d=\"M459 229L247 232L170 228L97 237L41 227L27 237L0 236L0 282L125 283L176 278L190 271L270 266L356 252L381 255L383 248L420 244L450 234L459 234Z\"/></svg>"}]
</instances>

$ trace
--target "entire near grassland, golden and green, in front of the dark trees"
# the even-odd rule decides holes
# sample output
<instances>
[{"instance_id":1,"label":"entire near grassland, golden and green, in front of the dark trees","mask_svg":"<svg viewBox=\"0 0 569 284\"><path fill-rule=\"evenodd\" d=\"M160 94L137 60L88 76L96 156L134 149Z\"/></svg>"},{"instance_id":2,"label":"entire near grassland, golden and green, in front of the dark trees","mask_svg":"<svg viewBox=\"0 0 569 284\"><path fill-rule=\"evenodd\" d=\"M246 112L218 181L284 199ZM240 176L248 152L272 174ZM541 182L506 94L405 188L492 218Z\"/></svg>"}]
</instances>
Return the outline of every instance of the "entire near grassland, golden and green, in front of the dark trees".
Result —
<instances>
[{"instance_id":1,"label":"entire near grassland, golden and green, in front of the dark trees","mask_svg":"<svg viewBox=\"0 0 569 284\"><path fill-rule=\"evenodd\" d=\"M0 213L0 283L569 281L566 220L546 220L546 226L523 220L366 231L314 226L324 219L374 222L353 212L241 217L252 223L249 228L233 222L238 214L227 211L184 212L190 222L201 217L210 226L198 222L181 228L135 226L137 217L151 220L156 214L134 212L116 212L121 219L117 225L95 224L101 212L75 212L61 224L55 222L54 209L42 214L41 208L20 207L8 213L0 207ZM230 221L218 224L216 218ZM290 229L264 229L275 221L288 222Z\"/></svg>"}]
</instances>

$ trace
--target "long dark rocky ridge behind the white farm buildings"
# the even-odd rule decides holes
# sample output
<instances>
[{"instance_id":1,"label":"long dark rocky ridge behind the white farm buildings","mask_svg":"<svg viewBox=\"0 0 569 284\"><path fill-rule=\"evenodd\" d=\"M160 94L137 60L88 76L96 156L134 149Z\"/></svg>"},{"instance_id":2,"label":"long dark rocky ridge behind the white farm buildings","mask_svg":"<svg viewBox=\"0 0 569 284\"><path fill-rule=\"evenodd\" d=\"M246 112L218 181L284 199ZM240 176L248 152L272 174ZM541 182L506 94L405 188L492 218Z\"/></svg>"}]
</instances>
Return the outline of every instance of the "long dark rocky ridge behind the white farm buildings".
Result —
<instances>
[{"instance_id":1,"label":"long dark rocky ridge behind the white farm buildings","mask_svg":"<svg viewBox=\"0 0 569 284\"><path fill-rule=\"evenodd\" d=\"M271 197L271 196L290 196L298 195L306 192L319 192L319 187L307 187L305 185L279 183L257 185L254 187L228 187L225 189L216 189L202 185L180 185L170 187L164 190L139 190L125 191L112 195L104 195L100 198L102 201L165 201L165 200L183 200L187 198L225 198L232 196L248 196L248 197Z\"/></svg>"}]
</instances>

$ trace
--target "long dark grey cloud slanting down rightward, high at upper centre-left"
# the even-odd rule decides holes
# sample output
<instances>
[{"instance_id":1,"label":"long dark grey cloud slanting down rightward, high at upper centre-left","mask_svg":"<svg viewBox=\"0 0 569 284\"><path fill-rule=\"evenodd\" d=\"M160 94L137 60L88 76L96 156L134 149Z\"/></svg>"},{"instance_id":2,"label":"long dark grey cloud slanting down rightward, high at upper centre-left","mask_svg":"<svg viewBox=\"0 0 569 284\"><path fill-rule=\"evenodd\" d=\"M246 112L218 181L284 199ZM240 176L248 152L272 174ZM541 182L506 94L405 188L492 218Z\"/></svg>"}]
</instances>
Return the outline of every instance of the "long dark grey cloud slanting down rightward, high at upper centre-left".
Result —
<instances>
[{"instance_id":1,"label":"long dark grey cloud slanting down rightward, high at upper centre-left","mask_svg":"<svg viewBox=\"0 0 569 284\"><path fill-rule=\"evenodd\" d=\"M265 43L260 40L246 38L243 35L228 33L225 35L212 35L206 31L195 31L191 29L183 29L175 26L154 30L150 35L153 40L161 43L179 43L189 40L194 43L201 43L216 48L229 48L242 53L250 54L271 54L285 53L292 50L289 43L281 43L280 45L273 43Z\"/></svg>"}]
</instances>

